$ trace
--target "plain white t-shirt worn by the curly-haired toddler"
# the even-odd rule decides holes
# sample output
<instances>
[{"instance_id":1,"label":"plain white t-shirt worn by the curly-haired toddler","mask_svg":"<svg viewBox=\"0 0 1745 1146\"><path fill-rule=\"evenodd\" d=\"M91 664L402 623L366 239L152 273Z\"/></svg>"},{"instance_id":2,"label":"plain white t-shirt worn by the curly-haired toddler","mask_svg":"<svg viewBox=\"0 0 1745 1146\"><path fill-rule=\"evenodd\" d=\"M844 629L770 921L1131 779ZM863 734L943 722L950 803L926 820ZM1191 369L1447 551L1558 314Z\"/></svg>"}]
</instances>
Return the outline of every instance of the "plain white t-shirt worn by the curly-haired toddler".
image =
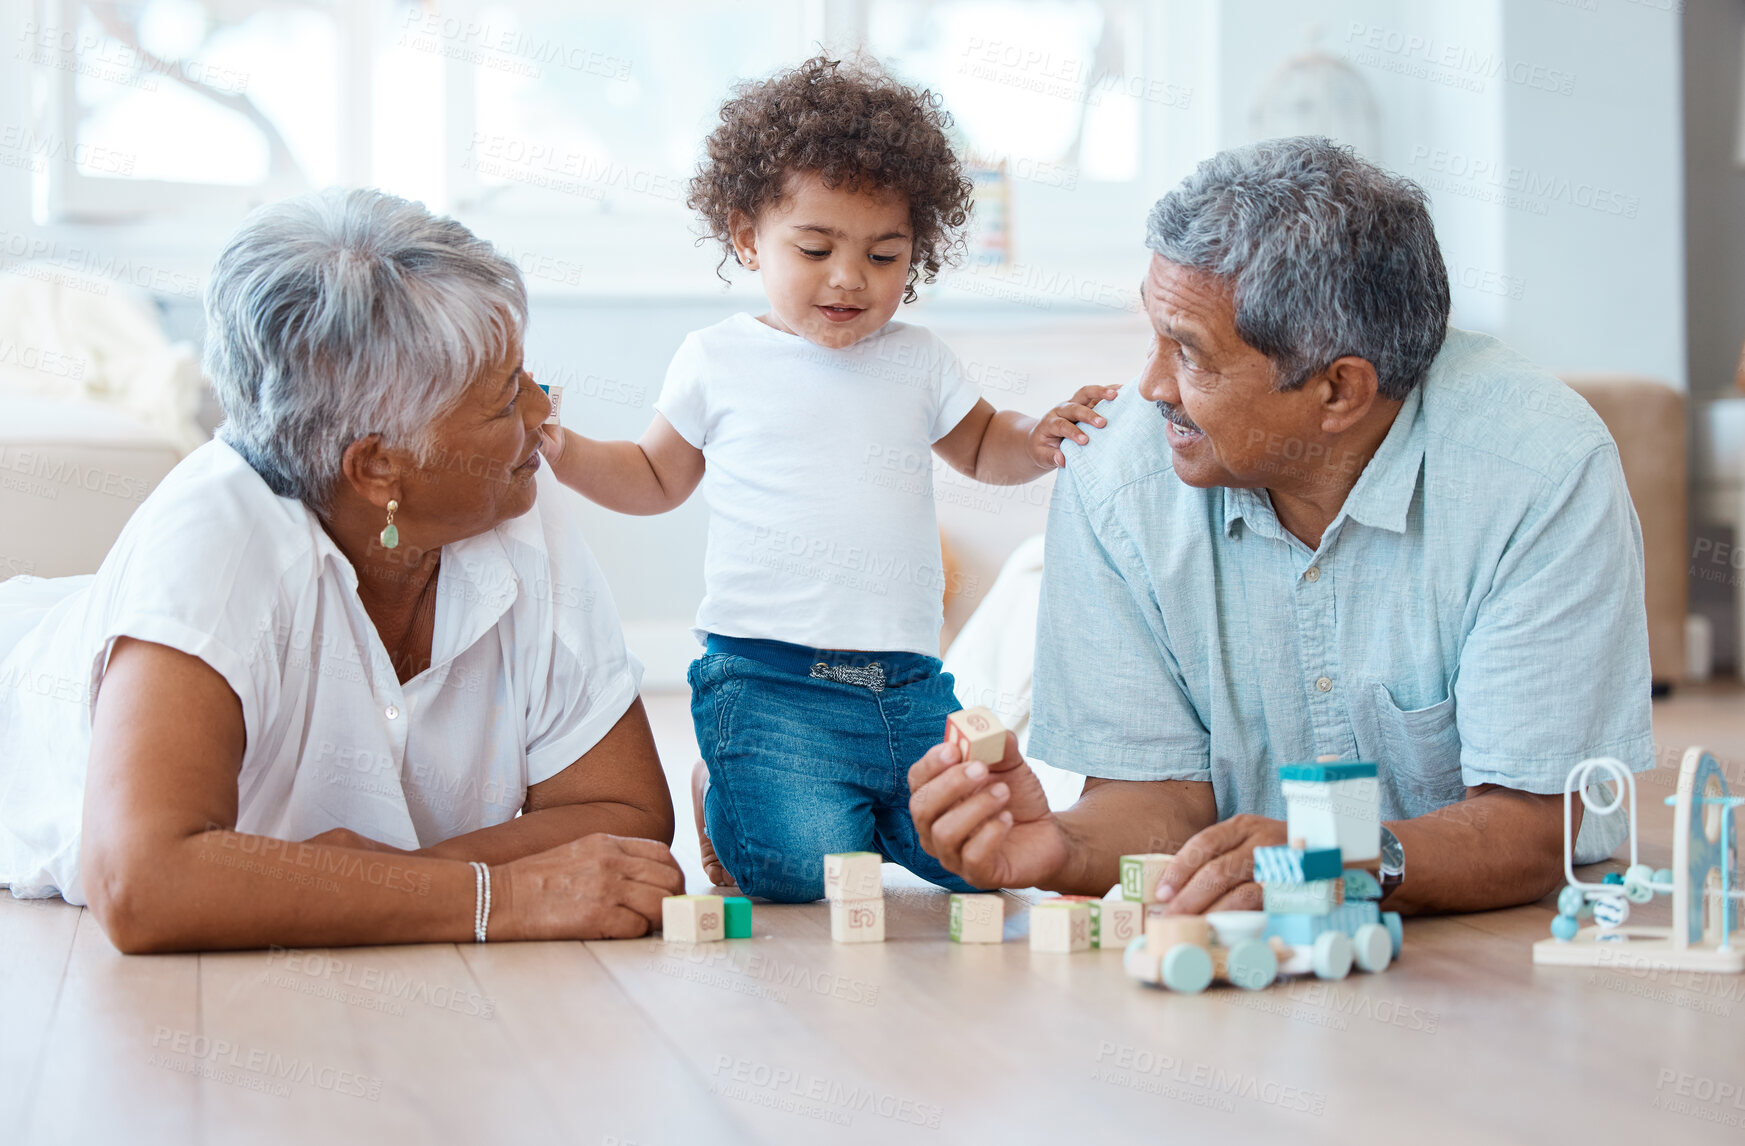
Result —
<instances>
[{"instance_id":1,"label":"plain white t-shirt worn by the curly-haired toddler","mask_svg":"<svg viewBox=\"0 0 1745 1146\"><path fill-rule=\"evenodd\" d=\"M939 654L932 445L981 394L932 331L843 351L750 314L689 335L654 408L703 452L696 637Z\"/></svg>"}]
</instances>

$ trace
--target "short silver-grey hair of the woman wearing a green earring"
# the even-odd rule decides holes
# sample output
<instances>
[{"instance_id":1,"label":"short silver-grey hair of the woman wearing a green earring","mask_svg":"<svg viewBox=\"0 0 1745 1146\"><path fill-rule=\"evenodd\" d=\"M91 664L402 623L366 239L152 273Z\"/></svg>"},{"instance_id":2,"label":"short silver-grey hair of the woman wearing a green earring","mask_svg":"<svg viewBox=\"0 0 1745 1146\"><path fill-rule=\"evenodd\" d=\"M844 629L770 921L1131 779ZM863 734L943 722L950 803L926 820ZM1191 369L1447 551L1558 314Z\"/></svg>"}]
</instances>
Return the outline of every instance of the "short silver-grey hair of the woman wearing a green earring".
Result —
<instances>
[{"instance_id":1,"label":"short silver-grey hair of the woman wearing a green earring","mask_svg":"<svg viewBox=\"0 0 1745 1146\"><path fill-rule=\"evenodd\" d=\"M359 438L428 462L433 424L525 326L515 263L421 202L323 190L269 204L206 288L218 436L274 494L326 508Z\"/></svg>"}]
</instances>

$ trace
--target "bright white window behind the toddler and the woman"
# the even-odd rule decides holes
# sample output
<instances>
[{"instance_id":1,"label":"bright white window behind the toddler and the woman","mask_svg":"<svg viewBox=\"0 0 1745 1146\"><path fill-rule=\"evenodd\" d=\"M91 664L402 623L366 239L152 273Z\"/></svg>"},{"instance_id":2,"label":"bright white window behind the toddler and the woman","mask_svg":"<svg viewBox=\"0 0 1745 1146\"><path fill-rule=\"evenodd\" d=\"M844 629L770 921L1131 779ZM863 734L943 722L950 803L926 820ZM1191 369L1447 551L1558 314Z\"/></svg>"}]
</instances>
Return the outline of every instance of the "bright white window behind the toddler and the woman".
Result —
<instances>
[{"instance_id":1,"label":"bright white window behind the toddler and the woman","mask_svg":"<svg viewBox=\"0 0 1745 1146\"><path fill-rule=\"evenodd\" d=\"M1152 78L1167 7L37 0L19 52L38 112L33 213L229 234L260 202L375 185L489 234L536 288L705 286L715 255L684 208L701 138L736 80L831 42L946 99L981 188L977 263L1117 244L1131 262L1131 229L1106 220L1143 218L1157 143L1192 106Z\"/></svg>"}]
</instances>

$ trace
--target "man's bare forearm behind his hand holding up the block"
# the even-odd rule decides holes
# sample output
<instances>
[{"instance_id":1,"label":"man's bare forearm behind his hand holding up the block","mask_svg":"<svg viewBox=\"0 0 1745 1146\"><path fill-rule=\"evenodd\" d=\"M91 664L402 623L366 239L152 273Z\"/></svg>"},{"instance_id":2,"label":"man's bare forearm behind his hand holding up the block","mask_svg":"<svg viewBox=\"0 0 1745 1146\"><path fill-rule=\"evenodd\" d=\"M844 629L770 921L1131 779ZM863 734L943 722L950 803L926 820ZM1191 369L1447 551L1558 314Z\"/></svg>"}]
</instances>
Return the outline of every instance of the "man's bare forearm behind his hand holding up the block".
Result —
<instances>
[{"instance_id":1,"label":"man's bare forearm behind his hand holding up the block","mask_svg":"<svg viewBox=\"0 0 1745 1146\"><path fill-rule=\"evenodd\" d=\"M1192 780L1085 778L1078 802L1059 813L1068 860L1044 888L1103 895L1120 879L1120 856L1174 853L1218 820L1209 783Z\"/></svg>"}]
</instances>

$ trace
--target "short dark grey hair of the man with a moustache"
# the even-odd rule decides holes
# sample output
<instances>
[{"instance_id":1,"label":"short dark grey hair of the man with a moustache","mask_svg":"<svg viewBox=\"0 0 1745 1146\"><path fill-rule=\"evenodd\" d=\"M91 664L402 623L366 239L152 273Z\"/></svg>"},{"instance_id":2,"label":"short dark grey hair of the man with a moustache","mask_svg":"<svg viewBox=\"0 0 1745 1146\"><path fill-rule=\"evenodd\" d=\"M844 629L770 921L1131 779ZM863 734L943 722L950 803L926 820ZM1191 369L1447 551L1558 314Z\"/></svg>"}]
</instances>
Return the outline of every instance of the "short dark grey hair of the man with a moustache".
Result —
<instances>
[{"instance_id":1,"label":"short dark grey hair of the man with a moustache","mask_svg":"<svg viewBox=\"0 0 1745 1146\"><path fill-rule=\"evenodd\" d=\"M1220 152L1152 208L1145 244L1235 293L1235 333L1297 389L1337 358L1401 399L1448 333L1422 188L1321 136Z\"/></svg>"}]
</instances>

